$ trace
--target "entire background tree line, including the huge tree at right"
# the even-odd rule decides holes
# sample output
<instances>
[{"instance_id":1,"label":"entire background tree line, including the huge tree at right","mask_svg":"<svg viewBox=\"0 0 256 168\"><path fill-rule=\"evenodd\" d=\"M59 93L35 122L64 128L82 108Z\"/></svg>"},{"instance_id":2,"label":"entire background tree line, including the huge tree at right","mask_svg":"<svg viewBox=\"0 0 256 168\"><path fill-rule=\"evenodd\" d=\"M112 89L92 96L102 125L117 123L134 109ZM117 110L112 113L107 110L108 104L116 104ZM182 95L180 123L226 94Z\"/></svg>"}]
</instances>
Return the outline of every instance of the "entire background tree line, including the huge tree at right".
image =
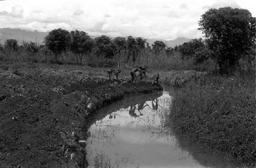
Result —
<instances>
[{"instance_id":1,"label":"entire background tree line, including the huge tree at right","mask_svg":"<svg viewBox=\"0 0 256 168\"><path fill-rule=\"evenodd\" d=\"M67 31L55 29L45 37L45 45L37 42L24 42L18 46L17 41L8 39L4 47L0 43L0 50L5 48L17 50L22 47L32 55L42 51L47 60L47 55L52 52L55 62L62 52L71 51L78 58L80 64L85 56L94 54L105 64L113 57L124 59L133 63L143 51L150 51L155 57L159 55L173 55L181 53L181 59L193 60L194 64L202 64L208 59L214 60L216 69L221 74L232 72L239 60L245 59L251 63L255 59L256 19L245 9L224 7L209 9L199 20L199 29L204 34L204 39L192 39L182 45L167 47L162 41L155 41L150 46L146 39L129 36L111 39L102 35L92 39L83 31ZM125 53L125 54L123 54Z\"/></svg>"}]
</instances>

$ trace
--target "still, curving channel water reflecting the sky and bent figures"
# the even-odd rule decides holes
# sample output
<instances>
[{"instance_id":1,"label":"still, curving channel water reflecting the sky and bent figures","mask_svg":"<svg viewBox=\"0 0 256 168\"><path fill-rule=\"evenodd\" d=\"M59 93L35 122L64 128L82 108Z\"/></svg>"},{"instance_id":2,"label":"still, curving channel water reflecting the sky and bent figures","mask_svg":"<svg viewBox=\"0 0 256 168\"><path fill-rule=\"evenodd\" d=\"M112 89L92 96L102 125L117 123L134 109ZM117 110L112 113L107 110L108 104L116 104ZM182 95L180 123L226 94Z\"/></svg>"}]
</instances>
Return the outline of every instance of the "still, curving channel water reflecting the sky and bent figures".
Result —
<instances>
[{"instance_id":1,"label":"still, curving channel water reflecting the sky and bent figures","mask_svg":"<svg viewBox=\"0 0 256 168\"><path fill-rule=\"evenodd\" d=\"M222 157L166 134L165 91L125 98L99 110L87 139L89 167L226 167Z\"/></svg>"}]
</instances>

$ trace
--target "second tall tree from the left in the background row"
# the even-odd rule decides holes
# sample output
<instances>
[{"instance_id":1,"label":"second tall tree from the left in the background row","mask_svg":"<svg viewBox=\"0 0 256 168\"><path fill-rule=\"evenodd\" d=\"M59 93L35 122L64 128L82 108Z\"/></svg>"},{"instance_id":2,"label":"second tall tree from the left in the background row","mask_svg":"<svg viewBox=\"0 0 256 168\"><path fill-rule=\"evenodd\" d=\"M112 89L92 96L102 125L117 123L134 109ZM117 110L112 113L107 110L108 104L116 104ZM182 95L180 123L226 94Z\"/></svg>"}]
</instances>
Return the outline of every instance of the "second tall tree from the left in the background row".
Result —
<instances>
[{"instance_id":1,"label":"second tall tree from the left in the background row","mask_svg":"<svg viewBox=\"0 0 256 168\"><path fill-rule=\"evenodd\" d=\"M80 64L82 64L83 55L89 55L91 53L94 46L94 41L86 32L83 31L71 31L70 34L70 49L73 53L79 55Z\"/></svg>"}]
</instances>

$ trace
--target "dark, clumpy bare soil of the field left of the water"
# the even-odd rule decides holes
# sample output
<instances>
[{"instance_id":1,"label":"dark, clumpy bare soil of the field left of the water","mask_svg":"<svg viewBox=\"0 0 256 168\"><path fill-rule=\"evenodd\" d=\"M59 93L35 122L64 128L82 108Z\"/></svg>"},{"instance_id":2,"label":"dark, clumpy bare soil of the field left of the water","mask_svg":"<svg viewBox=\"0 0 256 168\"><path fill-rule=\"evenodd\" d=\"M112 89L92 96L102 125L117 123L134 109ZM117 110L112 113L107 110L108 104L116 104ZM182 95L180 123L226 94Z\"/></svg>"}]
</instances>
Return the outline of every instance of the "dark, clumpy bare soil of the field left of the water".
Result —
<instances>
[{"instance_id":1,"label":"dark, clumpy bare soil of the field left of the water","mask_svg":"<svg viewBox=\"0 0 256 168\"><path fill-rule=\"evenodd\" d=\"M106 69L0 63L0 167L86 165L86 119L127 95L162 90L150 82L110 81ZM80 141L80 142L79 142Z\"/></svg>"}]
</instances>

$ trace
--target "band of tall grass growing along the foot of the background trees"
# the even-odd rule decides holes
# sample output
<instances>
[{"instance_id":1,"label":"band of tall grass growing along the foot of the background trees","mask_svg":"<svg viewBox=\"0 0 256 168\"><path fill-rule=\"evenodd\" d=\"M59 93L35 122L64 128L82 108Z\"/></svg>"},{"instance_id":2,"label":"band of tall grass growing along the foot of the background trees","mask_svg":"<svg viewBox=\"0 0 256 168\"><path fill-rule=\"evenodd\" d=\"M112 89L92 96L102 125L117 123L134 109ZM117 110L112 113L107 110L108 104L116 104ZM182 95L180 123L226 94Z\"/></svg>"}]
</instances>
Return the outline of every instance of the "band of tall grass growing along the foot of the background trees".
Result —
<instances>
[{"instance_id":1,"label":"band of tall grass growing along the foot of the background trees","mask_svg":"<svg viewBox=\"0 0 256 168\"><path fill-rule=\"evenodd\" d=\"M47 59L46 59L47 57ZM39 50L37 53L30 53L24 48L18 48L17 51L11 49L0 50L0 61L8 62L51 62L54 63L54 55L50 53L45 55L43 51ZM203 64L195 65L192 60L182 60L179 52L173 55L166 55L165 53L155 54L152 50L141 50L136 55L136 61L133 62L132 57L123 51L115 55L112 59L105 62L95 54L85 55L80 63L79 58L72 52L63 52L58 56L59 64L82 64L91 67L132 67L132 66L147 66L152 69L164 70L199 70L211 71L214 69L214 63L211 60Z\"/></svg>"}]
</instances>

